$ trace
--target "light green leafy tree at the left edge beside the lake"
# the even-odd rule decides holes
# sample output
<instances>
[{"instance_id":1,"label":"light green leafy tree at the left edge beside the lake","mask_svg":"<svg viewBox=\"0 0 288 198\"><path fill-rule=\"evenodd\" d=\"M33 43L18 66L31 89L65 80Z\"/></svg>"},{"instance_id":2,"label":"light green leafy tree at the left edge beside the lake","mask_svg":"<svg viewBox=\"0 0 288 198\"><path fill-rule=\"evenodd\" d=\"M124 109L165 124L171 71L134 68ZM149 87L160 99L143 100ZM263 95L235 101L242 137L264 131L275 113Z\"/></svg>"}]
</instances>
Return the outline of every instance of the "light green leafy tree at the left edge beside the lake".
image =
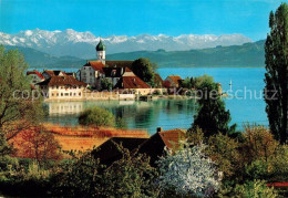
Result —
<instances>
[{"instance_id":1,"label":"light green leafy tree at the left edge beside the lake","mask_svg":"<svg viewBox=\"0 0 288 198\"><path fill-rule=\"evenodd\" d=\"M17 50L0 46L0 132L7 139L38 124L43 115L42 100L32 100L28 64Z\"/></svg>"}]
</instances>

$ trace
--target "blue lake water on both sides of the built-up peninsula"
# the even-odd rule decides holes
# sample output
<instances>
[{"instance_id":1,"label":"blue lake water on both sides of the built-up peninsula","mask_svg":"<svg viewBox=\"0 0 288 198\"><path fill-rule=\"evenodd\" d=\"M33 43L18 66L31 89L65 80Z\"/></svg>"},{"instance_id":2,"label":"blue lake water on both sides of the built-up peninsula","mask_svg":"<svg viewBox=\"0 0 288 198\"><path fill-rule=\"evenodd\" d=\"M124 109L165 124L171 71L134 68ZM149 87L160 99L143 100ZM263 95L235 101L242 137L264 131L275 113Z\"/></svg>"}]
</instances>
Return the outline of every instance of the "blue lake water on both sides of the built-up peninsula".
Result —
<instances>
[{"instance_id":1,"label":"blue lake water on both sides of the built-up peninsula","mask_svg":"<svg viewBox=\"0 0 288 198\"><path fill-rule=\"evenodd\" d=\"M246 122L268 126L263 100L263 67L197 67L197 69L158 69L163 79L167 75L199 76L208 74L222 83L224 92L233 97L224 98L232 114L232 124L243 128ZM232 86L229 83L232 82ZM47 122L62 125L75 125L78 115L90 106L101 106L122 117L128 128L145 128L154 134L156 127L164 129L188 128L195 114L193 100L157 100L152 102L134 101L95 101L95 102L53 102L47 103L49 116Z\"/></svg>"}]
</instances>

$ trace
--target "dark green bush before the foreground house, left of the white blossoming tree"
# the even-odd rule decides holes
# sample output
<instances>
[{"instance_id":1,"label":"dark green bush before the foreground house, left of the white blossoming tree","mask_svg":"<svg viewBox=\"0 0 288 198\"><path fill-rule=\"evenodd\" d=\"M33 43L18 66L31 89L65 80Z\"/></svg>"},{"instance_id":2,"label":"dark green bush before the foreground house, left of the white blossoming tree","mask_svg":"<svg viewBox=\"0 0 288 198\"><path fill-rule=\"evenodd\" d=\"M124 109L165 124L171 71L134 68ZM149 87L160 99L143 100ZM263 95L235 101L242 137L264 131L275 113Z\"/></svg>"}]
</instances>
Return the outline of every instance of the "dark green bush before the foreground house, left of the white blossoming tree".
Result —
<instances>
[{"instance_id":1,"label":"dark green bush before the foreground house, left of the white blossoming tree","mask_svg":"<svg viewBox=\"0 0 288 198\"><path fill-rule=\"evenodd\" d=\"M96 197L157 197L156 168L145 155L128 152L119 145L122 159L104 170Z\"/></svg>"}]
</instances>

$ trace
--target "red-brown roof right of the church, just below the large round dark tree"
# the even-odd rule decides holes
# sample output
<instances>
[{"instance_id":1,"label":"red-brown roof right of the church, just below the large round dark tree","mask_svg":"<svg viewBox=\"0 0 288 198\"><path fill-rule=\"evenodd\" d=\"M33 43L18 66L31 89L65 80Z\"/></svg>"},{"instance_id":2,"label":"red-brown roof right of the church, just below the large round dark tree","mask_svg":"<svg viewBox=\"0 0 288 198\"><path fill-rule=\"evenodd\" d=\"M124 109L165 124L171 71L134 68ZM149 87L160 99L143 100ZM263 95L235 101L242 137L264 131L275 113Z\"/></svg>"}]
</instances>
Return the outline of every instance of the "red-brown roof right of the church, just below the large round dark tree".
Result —
<instances>
[{"instance_id":1,"label":"red-brown roof right of the church, just below the large round dark tree","mask_svg":"<svg viewBox=\"0 0 288 198\"><path fill-rule=\"evenodd\" d=\"M138 76L122 76L114 88L150 88Z\"/></svg>"}]
</instances>

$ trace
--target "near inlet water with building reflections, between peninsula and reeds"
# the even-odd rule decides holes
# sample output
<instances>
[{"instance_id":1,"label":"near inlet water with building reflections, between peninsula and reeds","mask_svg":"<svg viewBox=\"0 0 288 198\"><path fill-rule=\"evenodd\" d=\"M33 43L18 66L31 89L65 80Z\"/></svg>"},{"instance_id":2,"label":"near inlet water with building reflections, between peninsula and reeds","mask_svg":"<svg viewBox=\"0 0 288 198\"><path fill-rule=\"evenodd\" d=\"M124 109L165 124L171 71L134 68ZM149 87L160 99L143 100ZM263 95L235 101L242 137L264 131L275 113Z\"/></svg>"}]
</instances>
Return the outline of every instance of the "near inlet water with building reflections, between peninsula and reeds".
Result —
<instances>
[{"instance_id":1,"label":"near inlet water with building reflections, between peninsula and reeds","mask_svg":"<svg viewBox=\"0 0 288 198\"><path fill-rule=\"evenodd\" d=\"M122 117L128 128L147 129L154 134L156 127L164 129L188 128L195 112L192 100L95 101L95 102L49 102L47 122L61 125L76 125L79 114L88 107L101 106Z\"/></svg>"}]
</instances>

